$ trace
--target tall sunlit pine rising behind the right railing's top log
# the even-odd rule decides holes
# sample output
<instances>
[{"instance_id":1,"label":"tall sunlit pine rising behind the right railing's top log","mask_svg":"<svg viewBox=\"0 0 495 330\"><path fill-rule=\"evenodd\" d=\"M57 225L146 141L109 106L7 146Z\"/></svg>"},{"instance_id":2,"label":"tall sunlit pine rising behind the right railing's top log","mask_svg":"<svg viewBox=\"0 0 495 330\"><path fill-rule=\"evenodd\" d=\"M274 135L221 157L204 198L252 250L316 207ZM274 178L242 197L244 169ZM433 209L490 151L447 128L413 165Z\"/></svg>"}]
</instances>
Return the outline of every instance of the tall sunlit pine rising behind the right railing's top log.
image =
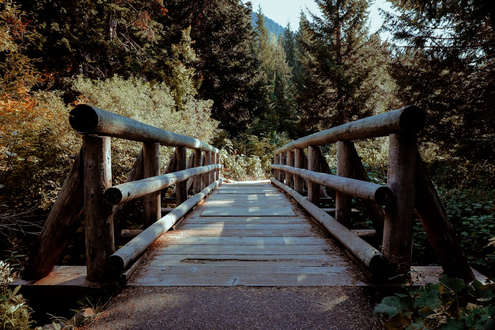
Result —
<instances>
[{"instance_id":1,"label":"tall sunlit pine rising behind the right railing's top log","mask_svg":"<svg viewBox=\"0 0 495 330\"><path fill-rule=\"evenodd\" d=\"M365 84L373 72L367 47L368 0L316 0L322 16L302 17L298 43L303 66L297 82L301 125L322 130L370 115Z\"/></svg>"}]
</instances>

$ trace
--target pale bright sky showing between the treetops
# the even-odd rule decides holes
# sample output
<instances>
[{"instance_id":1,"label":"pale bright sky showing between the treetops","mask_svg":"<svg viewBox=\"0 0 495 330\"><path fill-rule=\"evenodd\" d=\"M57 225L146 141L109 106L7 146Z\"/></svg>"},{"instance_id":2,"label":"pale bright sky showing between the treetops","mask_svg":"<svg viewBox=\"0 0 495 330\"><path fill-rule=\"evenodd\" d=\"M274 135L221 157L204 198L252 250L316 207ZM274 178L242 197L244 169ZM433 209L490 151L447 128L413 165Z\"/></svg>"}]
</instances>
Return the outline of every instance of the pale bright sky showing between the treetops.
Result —
<instances>
[{"instance_id":1,"label":"pale bright sky showing between the treetops","mask_svg":"<svg viewBox=\"0 0 495 330\"><path fill-rule=\"evenodd\" d=\"M261 4L261 9L266 17L283 27L289 21L293 30L297 30L299 26L301 9L306 13L306 7L312 13L319 11L316 3L311 0L251 0L251 3L253 11L258 11L258 5ZM376 0L370 7L371 33L377 31L382 25L382 18L378 14L378 8L388 10L390 5L386 0Z\"/></svg>"}]
</instances>

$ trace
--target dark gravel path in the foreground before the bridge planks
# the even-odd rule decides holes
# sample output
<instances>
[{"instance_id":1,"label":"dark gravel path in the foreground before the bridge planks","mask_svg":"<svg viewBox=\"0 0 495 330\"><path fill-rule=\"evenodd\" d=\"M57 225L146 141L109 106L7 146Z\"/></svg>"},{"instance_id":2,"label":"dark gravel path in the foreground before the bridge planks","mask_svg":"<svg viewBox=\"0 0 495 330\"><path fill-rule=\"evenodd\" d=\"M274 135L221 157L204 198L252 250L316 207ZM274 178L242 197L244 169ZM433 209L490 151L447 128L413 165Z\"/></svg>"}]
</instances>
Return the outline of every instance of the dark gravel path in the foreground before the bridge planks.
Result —
<instances>
[{"instance_id":1,"label":"dark gravel path in the foreground before the bridge planks","mask_svg":"<svg viewBox=\"0 0 495 330\"><path fill-rule=\"evenodd\" d=\"M126 287L82 329L375 330L362 287Z\"/></svg>"}]
</instances>

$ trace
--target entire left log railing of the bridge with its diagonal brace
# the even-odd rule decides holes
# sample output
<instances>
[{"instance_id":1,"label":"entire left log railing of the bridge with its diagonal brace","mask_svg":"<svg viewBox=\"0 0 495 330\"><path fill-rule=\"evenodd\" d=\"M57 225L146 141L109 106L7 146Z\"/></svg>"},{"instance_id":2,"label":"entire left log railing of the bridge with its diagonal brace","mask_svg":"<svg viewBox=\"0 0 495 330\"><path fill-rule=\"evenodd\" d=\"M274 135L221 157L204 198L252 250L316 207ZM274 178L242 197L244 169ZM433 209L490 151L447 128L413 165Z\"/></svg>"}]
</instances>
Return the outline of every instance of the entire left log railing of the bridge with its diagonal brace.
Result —
<instances>
[{"instance_id":1,"label":"entire left log railing of the bridge with its diagonal brace","mask_svg":"<svg viewBox=\"0 0 495 330\"><path fill-rule=\"evenodd\" d=\"M84 104L70 112L69 123L83 134L83 146L39 236L39 247L31 258L26 279L49 275L83 213L87 279L113 279L115 270L121 271L129 265L222 182L219 172L222 165L216 156L219 150L205 142ZM110 137L143 142L127 182L114 187L111 187ZM160 145L175 147L173 173L159 173ZM194 168L186 168L187 148L193 149ZM205 156L205 166L201 166L201 153ZM195 195L191 198L188 179L194 180ZM160 192L174 184L178 206L162 218ZM139 197L143 197L145 231L115 252L113 217L121 214L122 208L113 205Z\"/></svg>"}]
</instances>

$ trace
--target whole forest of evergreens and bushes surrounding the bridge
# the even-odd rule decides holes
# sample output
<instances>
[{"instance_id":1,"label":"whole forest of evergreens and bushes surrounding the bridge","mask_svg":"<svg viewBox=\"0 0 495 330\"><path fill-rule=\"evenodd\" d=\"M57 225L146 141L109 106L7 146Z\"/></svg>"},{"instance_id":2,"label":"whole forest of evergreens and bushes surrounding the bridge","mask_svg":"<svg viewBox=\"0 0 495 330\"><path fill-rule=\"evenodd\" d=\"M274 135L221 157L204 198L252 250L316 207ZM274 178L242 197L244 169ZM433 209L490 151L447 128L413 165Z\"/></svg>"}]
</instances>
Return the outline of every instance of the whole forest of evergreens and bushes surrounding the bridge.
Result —
<instances>
[{"instance_id":1,"label":"whole forest of evergreens and bushes surrounding the bridge","mask_svg":"<svg viewBox=\"0 0 495 330\"><path fill-rule=\"evenodd\" d=\"M495 275L492 0L388 0L389 40L370 33L370 0L314 1L321 14L276 34L249 1L0 0L0 267L26 266L81 147L68 123L77 104L208 142L237 181L269 178L285 143L416 104L454 230L472 266ZM140 145L112 146L117 184ZM385 185L386 139L356 148ZM335 169L335 147L323 152ZM364 213L353 221L371 226ZM58 264L84 265L82 220L71 242ZM413 261L438 263L419 220Z\"/></svg>"}]
</instances>

